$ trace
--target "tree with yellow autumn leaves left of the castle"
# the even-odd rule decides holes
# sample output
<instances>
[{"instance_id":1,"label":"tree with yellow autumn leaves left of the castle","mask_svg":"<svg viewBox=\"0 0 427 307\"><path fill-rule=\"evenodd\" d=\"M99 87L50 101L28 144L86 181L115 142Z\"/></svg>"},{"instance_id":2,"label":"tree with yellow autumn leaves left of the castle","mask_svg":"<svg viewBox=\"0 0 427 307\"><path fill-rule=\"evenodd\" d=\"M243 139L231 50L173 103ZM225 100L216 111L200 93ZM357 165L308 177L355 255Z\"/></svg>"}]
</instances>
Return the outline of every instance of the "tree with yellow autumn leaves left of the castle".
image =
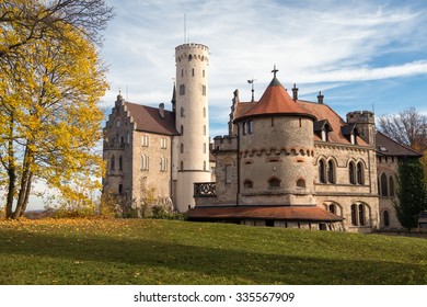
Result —
<instances>
[{"instance_id":1,"label":"tree with yellow autumn leaves left of the castle","mask_svg":"<svg viewBox=\"0 0 427 307\"><path fill-rule=\"evenodd\" d=\"M45 1L8 2L32 13L49 8ZM84 191L100 186L93 180L102 174L97 102L107 82L83 27L53 12L58 35L46 30L49 35L32 36L26 23L4 21L11 15L0 11L0 175L5 179L0 182L7 191L5 216L20 218L35 180L74 202L89 202Z\"/></svg>"}]
</instances>

